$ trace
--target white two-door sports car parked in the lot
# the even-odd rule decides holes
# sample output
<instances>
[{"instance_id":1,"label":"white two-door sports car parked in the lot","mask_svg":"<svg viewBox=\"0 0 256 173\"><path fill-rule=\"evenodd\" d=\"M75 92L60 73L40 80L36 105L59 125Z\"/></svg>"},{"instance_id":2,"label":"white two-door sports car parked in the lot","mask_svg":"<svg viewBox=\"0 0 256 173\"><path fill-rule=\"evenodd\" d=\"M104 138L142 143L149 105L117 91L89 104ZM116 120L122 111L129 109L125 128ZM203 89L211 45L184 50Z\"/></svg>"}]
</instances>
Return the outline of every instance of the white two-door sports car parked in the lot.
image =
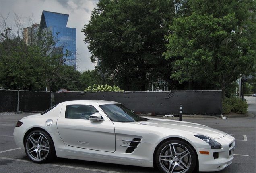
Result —
<instances>
[{"instance_id":1,"label":"white two-door sports car parked in the lot","mask_svg":"<svg viewBox=\"0 0 256 173\"><path fill-rule=\"evenodd\" d=\"M163 173L219 171L231 164L234 137L210 127L143 118L112 101L66 101L24 117L14 129L29 159L54 157L158 167Z\"/></svg>"}]
</instances>

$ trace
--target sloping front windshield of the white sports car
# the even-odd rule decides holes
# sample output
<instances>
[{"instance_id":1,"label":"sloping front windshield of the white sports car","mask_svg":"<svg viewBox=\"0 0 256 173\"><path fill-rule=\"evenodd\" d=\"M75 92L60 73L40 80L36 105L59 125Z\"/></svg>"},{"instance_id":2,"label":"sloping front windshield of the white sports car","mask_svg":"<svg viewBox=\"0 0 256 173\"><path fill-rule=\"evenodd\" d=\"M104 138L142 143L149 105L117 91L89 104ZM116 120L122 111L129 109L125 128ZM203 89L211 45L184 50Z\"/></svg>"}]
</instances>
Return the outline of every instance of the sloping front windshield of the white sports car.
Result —
<instances>
[{"instance_id":1,"label":"sloping front windshield of the white sports car","mask_svg":"<svg viewBox=\"0 0 256 173\"><path fill-rule=\"evenodd\" d=\"M136 113L126 108L122 104L107 104L100 105L101 109L109 117L111 121L115 122L136 122L136 121L145 121Z\"/></svg>"}]
</instances>

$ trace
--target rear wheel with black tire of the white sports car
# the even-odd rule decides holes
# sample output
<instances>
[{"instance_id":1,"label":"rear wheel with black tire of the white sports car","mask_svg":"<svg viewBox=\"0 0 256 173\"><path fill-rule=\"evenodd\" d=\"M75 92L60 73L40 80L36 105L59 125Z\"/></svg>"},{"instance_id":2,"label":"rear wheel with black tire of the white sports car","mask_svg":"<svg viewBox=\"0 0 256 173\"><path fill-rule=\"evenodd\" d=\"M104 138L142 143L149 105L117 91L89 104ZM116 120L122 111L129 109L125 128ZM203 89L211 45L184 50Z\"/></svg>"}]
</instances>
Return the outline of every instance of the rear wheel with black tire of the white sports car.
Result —
<instances>
[{"instance_id":1,"label":"rear wheel with black tire of the white sports car","mask_svg":"<svg viewBox=\"0 0 256 173\"><path fill-rule=\"evenodd\" d=\"M35 163L46 163L56 157L52 139L41 130L35 130L27 135L24 142L25 152Z\"/></svg>"}]
</instances>

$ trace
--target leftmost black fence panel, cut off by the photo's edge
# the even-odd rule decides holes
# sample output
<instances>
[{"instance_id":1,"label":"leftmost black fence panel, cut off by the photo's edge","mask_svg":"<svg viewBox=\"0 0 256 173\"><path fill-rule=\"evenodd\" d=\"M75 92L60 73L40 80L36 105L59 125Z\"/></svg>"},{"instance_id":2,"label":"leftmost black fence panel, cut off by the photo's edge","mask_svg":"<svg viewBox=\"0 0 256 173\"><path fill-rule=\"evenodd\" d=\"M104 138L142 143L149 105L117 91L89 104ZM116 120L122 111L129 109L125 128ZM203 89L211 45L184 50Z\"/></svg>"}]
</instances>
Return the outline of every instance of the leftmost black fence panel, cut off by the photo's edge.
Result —
<instances>
[{"instance_id":1,"label":"leftmost black fence panel, cut off by the photo's edge","mask_svg":"<svg viewBox=\"0 0 256 173\"><path fill-rule=\"evenodd\" d=\"M0 90L0 112L17 112L17 104L17 90Z\"/></svg>"}]
</instances>

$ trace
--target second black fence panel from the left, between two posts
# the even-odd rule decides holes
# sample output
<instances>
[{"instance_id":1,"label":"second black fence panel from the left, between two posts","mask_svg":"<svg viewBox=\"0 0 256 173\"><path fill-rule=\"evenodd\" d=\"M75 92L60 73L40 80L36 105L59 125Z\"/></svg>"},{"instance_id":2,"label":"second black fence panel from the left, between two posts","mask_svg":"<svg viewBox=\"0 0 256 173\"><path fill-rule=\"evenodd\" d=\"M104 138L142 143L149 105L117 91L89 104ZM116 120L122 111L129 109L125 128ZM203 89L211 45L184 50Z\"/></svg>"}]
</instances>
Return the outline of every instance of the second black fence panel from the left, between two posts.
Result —
<instances>
[{"instance_id":1,"label":"second black fence panel from the left, between two posts","mask_svg":"<svg viewBox=\"0 0 256 173\"><path fill-rule=\"evenodd\" d=\"M51 107L51 92L19 91L19 110L23 112L45 111Z\"/></svg>"}]
</instances>

